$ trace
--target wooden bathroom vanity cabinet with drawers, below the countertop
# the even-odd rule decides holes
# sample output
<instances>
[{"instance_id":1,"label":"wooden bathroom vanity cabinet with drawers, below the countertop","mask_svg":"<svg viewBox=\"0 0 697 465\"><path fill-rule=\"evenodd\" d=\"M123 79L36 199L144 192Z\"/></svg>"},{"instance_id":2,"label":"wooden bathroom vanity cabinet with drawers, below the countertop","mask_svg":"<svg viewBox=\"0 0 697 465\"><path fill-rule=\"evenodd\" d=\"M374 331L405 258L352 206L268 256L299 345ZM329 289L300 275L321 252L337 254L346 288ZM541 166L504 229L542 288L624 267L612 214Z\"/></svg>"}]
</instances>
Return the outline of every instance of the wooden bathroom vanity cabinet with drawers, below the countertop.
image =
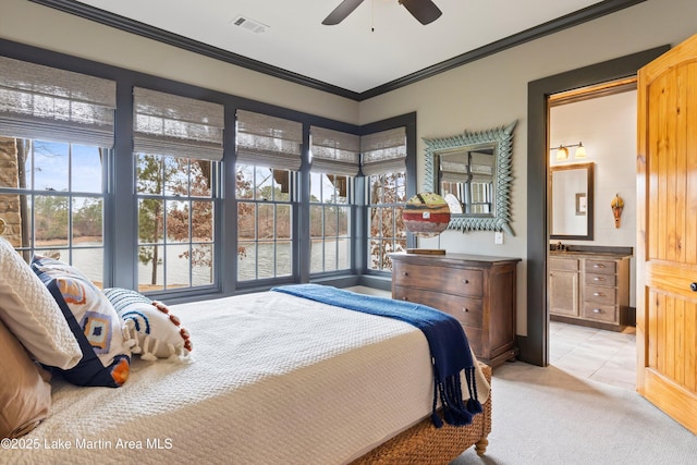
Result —
<instances>
[{"instance_id":1,"label":"wooden bathroom vanity cabinet with drawers, below the countertop","mask_svg":"<svg viewBox=\"0 0 697 465\"><path fill-rule=\"evenodd\" d=\"M550 253L550 319L622 331L629 309L629 256Z\"/></svg>"}]
</instances>

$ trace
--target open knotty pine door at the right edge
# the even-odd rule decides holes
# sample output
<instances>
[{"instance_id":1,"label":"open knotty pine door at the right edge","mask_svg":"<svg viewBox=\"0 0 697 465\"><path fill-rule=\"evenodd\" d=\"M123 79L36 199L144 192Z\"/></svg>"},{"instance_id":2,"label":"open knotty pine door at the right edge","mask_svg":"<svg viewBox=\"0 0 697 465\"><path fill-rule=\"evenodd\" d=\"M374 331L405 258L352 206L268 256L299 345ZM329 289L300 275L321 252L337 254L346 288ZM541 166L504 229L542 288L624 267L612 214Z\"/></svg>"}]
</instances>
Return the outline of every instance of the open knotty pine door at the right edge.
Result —
<instances>
[{"instance_id":1,"label":"open knotty pine door at the right edge","mask_svg":"<svg viewBox=\"0 0 697 465\"><path fill-rule=\"evenodd\" d=\"M697 433L697 35L639 70L637 391Z\"/></svg>"}]
</instances>

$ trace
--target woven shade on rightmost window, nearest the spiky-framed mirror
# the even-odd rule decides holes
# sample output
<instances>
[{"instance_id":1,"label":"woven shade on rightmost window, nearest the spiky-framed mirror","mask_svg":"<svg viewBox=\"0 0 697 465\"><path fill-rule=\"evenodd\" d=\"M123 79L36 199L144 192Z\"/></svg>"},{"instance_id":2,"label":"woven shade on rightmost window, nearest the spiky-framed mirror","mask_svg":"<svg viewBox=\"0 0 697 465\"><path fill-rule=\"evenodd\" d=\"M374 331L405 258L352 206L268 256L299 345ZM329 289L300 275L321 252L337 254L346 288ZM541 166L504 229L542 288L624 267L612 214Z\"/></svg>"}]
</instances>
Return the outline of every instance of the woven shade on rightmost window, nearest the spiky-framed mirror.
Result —
<instances>
[{"instance_id":1,"label":"woven shade on rightmost window, nearest the spiky-framed mirror","mask_svg":"<svg viewBox=\"0 0 697 465\"><path fill-rule=\"evenodd\" d=\"M395 127L360 136L360 170L366 176L406 169L406 129Z\"/></svg>"}]
</instances>

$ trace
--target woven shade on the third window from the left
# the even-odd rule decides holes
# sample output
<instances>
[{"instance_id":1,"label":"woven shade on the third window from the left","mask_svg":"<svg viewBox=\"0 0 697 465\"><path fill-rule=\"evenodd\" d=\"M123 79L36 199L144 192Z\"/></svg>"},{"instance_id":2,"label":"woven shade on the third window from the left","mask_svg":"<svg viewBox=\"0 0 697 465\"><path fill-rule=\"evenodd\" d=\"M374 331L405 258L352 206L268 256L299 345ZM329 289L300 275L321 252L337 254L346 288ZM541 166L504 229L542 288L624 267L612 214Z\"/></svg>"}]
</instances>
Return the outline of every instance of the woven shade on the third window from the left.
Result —
<instances>
[{"instance_id":1,"label":"woven shade on the third window from the left","mask_svg":"<svg viewBox=\"0 0 697 465\"><path fill-rule=\"evenodd\" d=\"M268 114L237 110L237 163L298 171L303 124Z\"/></svg>"}]
</instances>

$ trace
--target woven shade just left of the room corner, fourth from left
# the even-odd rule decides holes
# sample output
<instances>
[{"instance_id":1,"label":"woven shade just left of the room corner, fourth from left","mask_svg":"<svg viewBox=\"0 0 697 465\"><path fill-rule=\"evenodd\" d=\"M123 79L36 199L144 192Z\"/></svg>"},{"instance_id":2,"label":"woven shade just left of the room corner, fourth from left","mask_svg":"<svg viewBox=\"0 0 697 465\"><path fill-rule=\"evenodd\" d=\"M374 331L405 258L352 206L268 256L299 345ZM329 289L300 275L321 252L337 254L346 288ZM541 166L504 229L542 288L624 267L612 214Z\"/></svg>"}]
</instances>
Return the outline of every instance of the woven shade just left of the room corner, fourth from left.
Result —
<instances>
[{"instance_id":1,"label":"woven shade just left of the room corner, fourth from left","mask_svg":"<svg viewBox=\"0 0 697 465\"><path fill-rule=\"evenodd\" d=\"M311 170L355 176L360 168L360 137L354 134L310 126Z\"/></svg>"}]
</instances>

